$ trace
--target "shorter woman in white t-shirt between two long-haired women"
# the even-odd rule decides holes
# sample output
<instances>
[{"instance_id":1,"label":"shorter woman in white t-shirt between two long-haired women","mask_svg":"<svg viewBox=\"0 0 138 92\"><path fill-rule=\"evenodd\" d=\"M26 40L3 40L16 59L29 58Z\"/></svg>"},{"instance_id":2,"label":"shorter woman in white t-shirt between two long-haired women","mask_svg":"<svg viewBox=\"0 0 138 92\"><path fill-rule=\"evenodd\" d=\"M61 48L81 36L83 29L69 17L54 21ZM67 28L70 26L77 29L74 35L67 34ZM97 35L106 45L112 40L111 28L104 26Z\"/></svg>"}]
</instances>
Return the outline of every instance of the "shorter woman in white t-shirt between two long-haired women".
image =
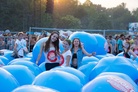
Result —
<instances>
[{"instance_id":1,"label":"shorter woman in white t-shirt between two long-haired women","mask_svg":"<svg viewBox=\"0 0 138 92\"><path fill-rule=\"evenodd\" d=\"M63 41L64 51L62 52L62 56L64 58L64 63L62 64L62 66L70 66L72 57L72 53L70 51L70 45L71 45L70 40L66 39Z\"/></svg>"}]
</instances>

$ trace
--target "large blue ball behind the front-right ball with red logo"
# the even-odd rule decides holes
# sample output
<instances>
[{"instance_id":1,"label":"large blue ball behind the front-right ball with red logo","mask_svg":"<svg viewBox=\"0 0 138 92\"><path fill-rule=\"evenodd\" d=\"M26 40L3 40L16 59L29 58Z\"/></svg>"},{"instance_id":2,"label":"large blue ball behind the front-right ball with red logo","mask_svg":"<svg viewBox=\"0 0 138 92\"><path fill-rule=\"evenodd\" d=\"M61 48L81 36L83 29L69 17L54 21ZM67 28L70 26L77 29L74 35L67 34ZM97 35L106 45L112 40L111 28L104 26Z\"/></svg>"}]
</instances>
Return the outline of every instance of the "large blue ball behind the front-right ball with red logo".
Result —
<instances>
[{"instance_id":1,"label":"large blue ball behind the front-right ball with red logo","mask_svg":"<svg viewBox=\"0 0 138 92\"><path fill-rule=\"evenodd\" d=\"M105 57L101 59L91 71L90 80L102 72L119 72L128 75L134 81L138 79L137 68L124 57Z\"/></svg>"}]
</instances>

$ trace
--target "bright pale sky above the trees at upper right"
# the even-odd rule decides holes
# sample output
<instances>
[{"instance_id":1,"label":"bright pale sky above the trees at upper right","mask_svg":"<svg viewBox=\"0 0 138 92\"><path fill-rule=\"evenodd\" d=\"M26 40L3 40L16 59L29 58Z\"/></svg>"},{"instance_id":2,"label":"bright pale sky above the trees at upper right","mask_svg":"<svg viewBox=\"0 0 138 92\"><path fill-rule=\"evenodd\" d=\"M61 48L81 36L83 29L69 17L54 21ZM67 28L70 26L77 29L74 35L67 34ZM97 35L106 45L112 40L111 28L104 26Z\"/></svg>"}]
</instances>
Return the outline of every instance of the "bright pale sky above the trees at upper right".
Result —
<instances>
[{"instance_id":1,"label":"bright pale sky above the trees at upper right","mask_svg":"<svg viewBox=\"0 0 138 92\"><path fill-rule=\"evenodd\" d=\"M85 0L80 0L85 1ZM130 11L138 8L138 0L91 0L93 4L101 4L102 7L112 8L120 5L122 2L126 3L126 8Z\"/></svg>"}]
</instances>

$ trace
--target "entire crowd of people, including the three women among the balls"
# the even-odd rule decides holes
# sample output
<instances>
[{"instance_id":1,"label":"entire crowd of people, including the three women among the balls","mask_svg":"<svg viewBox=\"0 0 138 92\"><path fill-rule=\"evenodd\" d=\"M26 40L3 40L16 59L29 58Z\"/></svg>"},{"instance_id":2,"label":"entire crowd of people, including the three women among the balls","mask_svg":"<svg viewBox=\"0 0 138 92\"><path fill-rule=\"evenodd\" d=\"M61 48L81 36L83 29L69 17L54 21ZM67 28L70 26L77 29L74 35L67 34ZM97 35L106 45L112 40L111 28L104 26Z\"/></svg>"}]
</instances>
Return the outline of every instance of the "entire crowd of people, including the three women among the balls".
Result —
<instances>
[{"instance_id":1,"label":"entire crowd of people, including the three women among the balls","mask_svg":"<svg viewBox=\"0 0 138 92\"><path fill-rule=\"evenodd\" d=\"M22 58L25 54L32 52L35 43L43 37L47 37L47 34L29 36L23 32L19 32L16 36L7 38L6 41L4 41L3 36L0 36L0 50L9 49L16 51L18 58ZM36 64L38 64L42 52L44 52L46 70L60 66L62 60L64 60L62 66L70 66L77 69L81 66L84 55L89 57L96 55L96 52L88 53L79 38L74 38L72 42L68 38L69 36L66 34L61 35L59 32L53 31L48 36L47 41L41 44ZM132 38L131 35L125 36L121 34L106 36L105 38L107 40L105 50L108 53L117 55L123 52L123 56L126 58L131 58L132 55L133 60L137 57L138 36ZM62 52L59 49L59 41L63 42L64 50Z\"/></svg>"}]
</instances>

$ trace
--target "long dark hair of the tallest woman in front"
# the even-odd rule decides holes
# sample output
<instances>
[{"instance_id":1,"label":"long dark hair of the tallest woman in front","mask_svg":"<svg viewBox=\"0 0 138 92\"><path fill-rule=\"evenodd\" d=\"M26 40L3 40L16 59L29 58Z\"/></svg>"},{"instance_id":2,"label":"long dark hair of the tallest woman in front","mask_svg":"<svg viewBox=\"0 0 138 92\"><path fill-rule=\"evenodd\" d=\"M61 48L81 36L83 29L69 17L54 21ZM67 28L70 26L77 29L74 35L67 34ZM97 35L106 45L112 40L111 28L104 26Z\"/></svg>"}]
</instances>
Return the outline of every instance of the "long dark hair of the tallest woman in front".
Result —
<instances>
[{"instance_id":1,"label":"long dark hair of the tallest woman in front","mask_svg":"<svg viewBox=\"0 0 138 92\"><path fill-rule=\"evenodd\" d=\"M55 52L55 55L57 55L57 53L59 54L59 33L56 32L56 31L53 31L53 32L51 33L51 35L49 36L48 40L45 42L44 51L46 52L46 51L49 50L49 47L50 47L50 40L51 40L51 36L52 36L53 34L57 34L57 35L58 35L57 40L56 40L55 42L52 42L52 44L53 44L54 47L55 47L55 51L56 51L56 52Z\"/></svg>"}]
</instances>

